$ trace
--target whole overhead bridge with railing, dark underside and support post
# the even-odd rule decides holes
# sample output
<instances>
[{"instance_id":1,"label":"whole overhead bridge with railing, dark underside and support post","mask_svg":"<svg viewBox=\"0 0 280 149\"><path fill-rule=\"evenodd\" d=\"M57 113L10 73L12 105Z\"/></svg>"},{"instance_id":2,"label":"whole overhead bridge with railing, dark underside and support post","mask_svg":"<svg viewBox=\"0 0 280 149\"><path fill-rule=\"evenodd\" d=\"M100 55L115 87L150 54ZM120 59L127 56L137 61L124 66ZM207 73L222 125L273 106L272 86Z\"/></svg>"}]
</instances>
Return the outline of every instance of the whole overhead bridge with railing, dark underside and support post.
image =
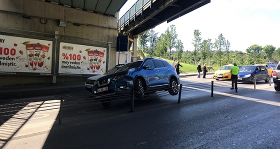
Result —
<instances>
[{"instance_id":1,"label":"whole overhead bridge with railing, dark underside and support post","mask_svg":"<svg viewBox=\"0 0 280 149\"><path fill-rule=\"evenodd\" d=\"M128 35L128 49L133 43L133 57L136 57L137 35L209 2L210 0L137 0L123 16L119 16L118 36Z\"/></svg>"}]
</instances>

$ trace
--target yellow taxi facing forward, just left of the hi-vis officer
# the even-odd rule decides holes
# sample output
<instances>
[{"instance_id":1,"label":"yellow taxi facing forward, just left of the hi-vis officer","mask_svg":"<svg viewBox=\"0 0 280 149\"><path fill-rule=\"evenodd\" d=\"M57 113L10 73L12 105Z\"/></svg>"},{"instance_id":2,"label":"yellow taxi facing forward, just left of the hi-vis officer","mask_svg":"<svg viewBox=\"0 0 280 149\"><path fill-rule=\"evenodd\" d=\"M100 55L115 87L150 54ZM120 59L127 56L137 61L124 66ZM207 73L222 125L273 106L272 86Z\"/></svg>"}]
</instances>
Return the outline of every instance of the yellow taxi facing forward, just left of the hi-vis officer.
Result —
<instances>
[{"instance_id":1,"label":"yellow taxi facing forward, just left of the hi-vis officer","mask_svg":"<svg viewBox=\"0 0 280 149\"><path fill-rule=\"evenodd\" d=\"M227 64L219 68L215 73L214 73L214 79L219 80L219 79L231 79L231 73L230 73L230 68L233 66L233 64ZM237 65L239 69L241 68L240 65Z\"/></svg>"}]
</instances>

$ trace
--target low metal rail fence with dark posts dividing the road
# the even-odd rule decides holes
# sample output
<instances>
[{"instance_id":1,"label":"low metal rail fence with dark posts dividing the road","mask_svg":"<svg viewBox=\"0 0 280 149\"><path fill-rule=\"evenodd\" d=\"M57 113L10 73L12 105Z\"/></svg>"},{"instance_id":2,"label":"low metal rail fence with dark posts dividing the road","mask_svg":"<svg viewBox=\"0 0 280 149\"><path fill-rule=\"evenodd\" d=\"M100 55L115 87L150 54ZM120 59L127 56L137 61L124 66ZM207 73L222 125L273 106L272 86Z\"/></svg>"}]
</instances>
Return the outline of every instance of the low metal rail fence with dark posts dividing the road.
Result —
<instances>
[{"instance_id":1,"label":"low metal rail fence with dark posts dividing the road","mask_svg":"<svg viewBox=\"0 0 280 149\"><path fill-rule=\"evenodd\" d=\"M254 88L256 88L256 82L258 80L254 79L253 82L250 81L250 83L254 84ZM243 82L243 83L249 83L249 82ZM238 84L238 83L236 83ZM231 86L231 81L219 81L218 83L214 84L214 81L211 82L203 82L203 83L190 83L190 84L179 84L179 92L178 92L178 103L181 101L181 92L184 91L190 91L190 90L195 90L197 88L203 89L203 88L211 88L211 97L213 97L213 88L218 87L218 86ZM271 86L271 77L269 77L269 86ZM237 85L235 87L235 92L237 92ZM171 89L171 88L168 88ZM154 93L156 91L156 94ZM142 99L152 99L154 97L162 97L169 95L168 90L150 90L145 92L146 95L143 97L140 97ZM94 100L92 100L94 98ZM81 99L78 102L76 99ZM8 117L8 116L13 116L13 115L20 115L20 114L32 114L34 110L36 112L38 111L45 111L45 110L51 110L51 109L58 109L59 108L59 121L58 124L62 124L62 111L63 108L71 108L71 107L83 107L83 106L88 106L88 104L100 104L100 103L106 103L106 102L111 102L111 101L117 101L117 100L131 100L131 107L130 107L130 112L134 111L134 99L135 99L135 92L133 91L128 91L128 92L120 92L120 93L112 93L112 94L100 94L96 96L75 96L75 97L70 97L70 96L61 96L60 101L59 99L49 99L49 100L58 100L55 102L47 103L37 103L33 104L32 107L28 107L27 109L23 109L24 106L26 106L28 103L31 102L36 102L36 101L28 101L28 102L15 102L15 103L10 103L10 104L1 104L0 105L0 116L1 117ZM43 101L49 101L48 99L43 100ZM79 103L77 105L77 103ZM38 107L36 107L36 105ZM43 107L43 108L42 108ZM40 109L39 109L40 108ZM20 112L19 112L20 111Z\"/></svg>"}]
</instances>

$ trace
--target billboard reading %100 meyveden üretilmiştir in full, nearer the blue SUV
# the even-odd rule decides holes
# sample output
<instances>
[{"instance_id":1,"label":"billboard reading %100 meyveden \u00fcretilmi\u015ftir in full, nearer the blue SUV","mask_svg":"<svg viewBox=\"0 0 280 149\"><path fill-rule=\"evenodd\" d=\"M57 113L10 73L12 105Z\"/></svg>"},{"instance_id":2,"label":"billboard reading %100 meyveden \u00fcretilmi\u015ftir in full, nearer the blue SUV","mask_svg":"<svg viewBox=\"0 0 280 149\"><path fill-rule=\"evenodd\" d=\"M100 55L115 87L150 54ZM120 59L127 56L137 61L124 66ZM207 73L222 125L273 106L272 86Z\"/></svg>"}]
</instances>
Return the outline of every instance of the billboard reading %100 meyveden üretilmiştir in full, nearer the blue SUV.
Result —
<instances>
[{"instance_id":1,"label":"billboard reading %100 meyveden \u00fcretilmi\u015ftir in full, nearer the blue SUV","mask_svg":"<svg viewBox=\"0 0 280 149\"><path fill-rule=\"evenodd\" d=\"M57 75L90 76L107 70L107 47L58 42Z\"/></svg>"}]
</instances>

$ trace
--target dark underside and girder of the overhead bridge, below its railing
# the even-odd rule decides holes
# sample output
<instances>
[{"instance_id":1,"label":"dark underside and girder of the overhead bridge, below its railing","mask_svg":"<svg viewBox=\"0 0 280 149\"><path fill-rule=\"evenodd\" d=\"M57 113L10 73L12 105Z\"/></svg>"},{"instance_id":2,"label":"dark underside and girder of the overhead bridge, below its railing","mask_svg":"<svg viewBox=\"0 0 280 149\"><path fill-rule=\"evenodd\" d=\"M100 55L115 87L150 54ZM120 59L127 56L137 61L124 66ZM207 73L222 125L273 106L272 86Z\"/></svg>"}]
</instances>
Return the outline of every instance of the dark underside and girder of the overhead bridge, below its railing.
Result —
<instances>
[{"instance_id":1,"label":"dark underside and girder of the overhead bridge, below its railing","mask_svg":"<svg viewBox=\"0 0 280 149\"><path fill-rule=\"evenodd\" d=\"M210 0L155 0L140 14L119 28L118 35L127 34L129 38L167 21L170 22L188 12L195 10Z\"/></svg>"}]
</instances>

